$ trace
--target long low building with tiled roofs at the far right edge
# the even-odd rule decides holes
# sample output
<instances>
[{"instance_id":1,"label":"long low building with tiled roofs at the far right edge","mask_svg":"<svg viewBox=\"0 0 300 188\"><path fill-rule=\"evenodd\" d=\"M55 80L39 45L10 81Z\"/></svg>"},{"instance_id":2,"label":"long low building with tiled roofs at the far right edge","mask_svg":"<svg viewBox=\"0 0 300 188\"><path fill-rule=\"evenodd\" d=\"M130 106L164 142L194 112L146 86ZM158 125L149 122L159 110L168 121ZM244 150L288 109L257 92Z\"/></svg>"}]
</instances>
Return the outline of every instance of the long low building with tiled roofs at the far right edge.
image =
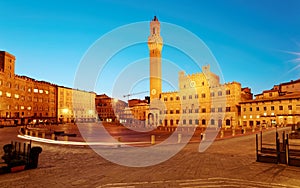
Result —
<instances>
[{"instance_id":1,"label":"long low building with tiled roofs at the far right edge","mask_svg":"<svg viewBox=\"0 0 300 188\"><path fill-rule=\"evenodd\" d=\"M245 127L287 126L300 123L300 80L275 85L240 102L242 125Z\"/></svg>"}]
</instances>

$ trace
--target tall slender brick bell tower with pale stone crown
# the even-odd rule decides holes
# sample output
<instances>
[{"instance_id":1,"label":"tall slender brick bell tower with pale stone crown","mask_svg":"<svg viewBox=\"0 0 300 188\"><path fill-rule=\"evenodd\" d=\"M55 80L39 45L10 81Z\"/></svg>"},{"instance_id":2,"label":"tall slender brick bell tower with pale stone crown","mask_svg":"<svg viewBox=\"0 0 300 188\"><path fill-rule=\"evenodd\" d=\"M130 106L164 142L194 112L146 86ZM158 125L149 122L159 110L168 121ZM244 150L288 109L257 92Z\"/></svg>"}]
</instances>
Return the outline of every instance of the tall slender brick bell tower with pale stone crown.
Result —
<instances>
[{"instance_id":1,"label":"tall slender brick bell tower with pale stone crown","mask_svg":"<svg viewBox=\"0 0 300 188\"><path fill-rule=\"evenodd\" d=\"M150 52L150 101L159 99L162 92L161 51L163 40L160 36L160 23L156 16L150 22L148 48Z\"/></svg>"}]
</instances>

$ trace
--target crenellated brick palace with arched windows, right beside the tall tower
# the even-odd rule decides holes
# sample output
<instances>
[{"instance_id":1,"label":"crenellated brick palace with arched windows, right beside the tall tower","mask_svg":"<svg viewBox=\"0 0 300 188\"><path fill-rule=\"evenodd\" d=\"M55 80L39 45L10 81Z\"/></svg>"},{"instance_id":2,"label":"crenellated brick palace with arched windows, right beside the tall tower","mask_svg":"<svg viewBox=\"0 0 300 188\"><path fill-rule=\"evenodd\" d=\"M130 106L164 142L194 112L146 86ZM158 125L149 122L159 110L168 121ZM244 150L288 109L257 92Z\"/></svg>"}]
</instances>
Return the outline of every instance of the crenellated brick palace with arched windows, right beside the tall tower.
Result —
<instances>
[{"instance_id":1,"label":"crenellated brick palace with arched windows, right beside the tall tower","mask_svg":"<svg viewBox=\"0 0 300 188\"><path fill-rule=\"evenodd\" d=\"M202 73L179 72L179 91L161 93L165 109L159 125L237 127L241 124L240 102L252 99L249 88L238 82L221 84L209 65Z\"/></svg>"}]
</instances>

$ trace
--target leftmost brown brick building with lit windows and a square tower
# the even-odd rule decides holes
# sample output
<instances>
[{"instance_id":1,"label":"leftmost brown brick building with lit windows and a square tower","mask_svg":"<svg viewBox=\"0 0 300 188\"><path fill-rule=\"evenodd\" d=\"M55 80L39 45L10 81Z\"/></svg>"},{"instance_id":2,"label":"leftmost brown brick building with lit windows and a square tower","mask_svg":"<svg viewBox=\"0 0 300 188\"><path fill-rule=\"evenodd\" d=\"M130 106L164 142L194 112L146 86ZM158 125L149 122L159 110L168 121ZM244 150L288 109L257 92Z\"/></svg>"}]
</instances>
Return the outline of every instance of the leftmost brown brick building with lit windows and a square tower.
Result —
<instances>
[{"instance_id":1,"label":"leftmost brown brick building with lit windows and a square tower","mask_svg":"<svg viewBox=\"0 0 300 188\"><path fill-rule=\"evenodd\" d=\"M16 75L15 57L0 51L0 124L56 120L54 84Z\"/></svg>"}]
</instances>

